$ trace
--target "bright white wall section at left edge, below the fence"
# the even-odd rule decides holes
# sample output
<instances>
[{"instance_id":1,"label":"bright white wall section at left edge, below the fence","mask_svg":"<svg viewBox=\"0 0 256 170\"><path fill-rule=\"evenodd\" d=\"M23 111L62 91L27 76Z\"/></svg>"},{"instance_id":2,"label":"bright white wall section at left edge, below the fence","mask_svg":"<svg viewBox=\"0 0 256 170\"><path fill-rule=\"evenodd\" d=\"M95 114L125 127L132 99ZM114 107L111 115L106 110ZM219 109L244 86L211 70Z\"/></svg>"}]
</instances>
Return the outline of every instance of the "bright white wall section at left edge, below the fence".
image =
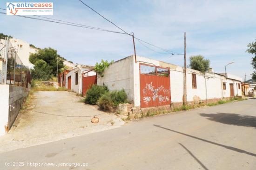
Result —
<instances>
[{"instance_id":1,"label":"bright white wall section at left edge, below the fence","mask_svg":"<svg viewBox=\"0 0 256 170\"><path fill-rule=\"evenodd\" d=\"M0 85L0 136L5 134L9 114L9 85Z\"/></svg>"}]
</instances>

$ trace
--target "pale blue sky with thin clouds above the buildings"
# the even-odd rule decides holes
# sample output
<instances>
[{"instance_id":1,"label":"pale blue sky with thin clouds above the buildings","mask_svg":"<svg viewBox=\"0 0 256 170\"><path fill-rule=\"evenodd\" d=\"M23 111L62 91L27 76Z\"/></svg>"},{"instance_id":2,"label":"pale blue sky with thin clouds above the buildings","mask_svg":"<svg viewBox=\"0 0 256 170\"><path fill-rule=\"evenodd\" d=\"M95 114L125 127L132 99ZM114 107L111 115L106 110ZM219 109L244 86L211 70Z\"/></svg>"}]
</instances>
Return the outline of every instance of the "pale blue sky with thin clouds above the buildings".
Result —
<instances>
[{"instance_id":1,"label":"pale blue sky with thin clouds above the buildings","mask_svg":"<svg viewBox=\"0 0 256 170\"><path fill-rule=\"evenodd\" d=\"M252 74L252 55L245 50L256 38L255 0L83 1L129 33L134 32L136 37L162 48L183 53L186 31L188 57L201 54L209 58L217 73L224 72L224 65L234 61L227 67L229 73L243 77L246 72L248 78ZM6 8L6 2L1 0L0 8ZM54 15L49 17L119 31L79 0L26 2L54 2ZM127 35L3 14L0 23L0 32L40 48L52 47L74 63L94 65L101 59L118 60L134 53L132 38ZM135 44L139 56L183 64L181 55L160 54L137 41Z\"/></svg>"}]
</instances>

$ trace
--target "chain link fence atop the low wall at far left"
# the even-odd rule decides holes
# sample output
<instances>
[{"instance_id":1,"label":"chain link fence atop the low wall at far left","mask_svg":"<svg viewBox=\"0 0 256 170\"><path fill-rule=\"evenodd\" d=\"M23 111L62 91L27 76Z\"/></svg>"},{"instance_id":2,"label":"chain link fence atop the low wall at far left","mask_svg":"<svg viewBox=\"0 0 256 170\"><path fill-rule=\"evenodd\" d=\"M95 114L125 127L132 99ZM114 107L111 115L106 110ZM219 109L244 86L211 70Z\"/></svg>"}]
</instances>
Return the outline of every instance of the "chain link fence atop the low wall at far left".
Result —
<instances>
[{"instance_id":1,"label":"chain link fence atop the low wall at far left","mask_svg":"<svg viewBox=\"0 0 256 170\"><path fill-rule=\"evenodd\" d=\"M1 39L0 45L0 84L12 84L28 87L31 84L31 72L23 65L17 49L7 39Z\"/></svg>"}]
</instances>

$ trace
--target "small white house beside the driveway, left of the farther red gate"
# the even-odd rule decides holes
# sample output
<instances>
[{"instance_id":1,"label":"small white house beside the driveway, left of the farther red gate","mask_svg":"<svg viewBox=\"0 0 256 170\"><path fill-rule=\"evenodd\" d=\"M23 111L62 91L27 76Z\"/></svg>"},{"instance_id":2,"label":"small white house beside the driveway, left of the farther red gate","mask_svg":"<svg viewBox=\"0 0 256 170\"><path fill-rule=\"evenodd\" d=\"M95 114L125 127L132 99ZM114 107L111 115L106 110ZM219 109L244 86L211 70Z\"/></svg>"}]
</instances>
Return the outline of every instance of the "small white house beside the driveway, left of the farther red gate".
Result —
<instances>
[{"instance_id":1,"label":"small white house beside the driveway, left of the farther red gate","mask_svg":"<svg viewBox=\"0 0 256 170\"><path fill-rule=\"evenodd\" d=\"M89 71L94 69L93 66L88 65L77 65L66 75L65 87L78 94L82 94L82 73L83 71ZM94 76L96 73L94 71L88 72L89 76Z\"/></svg>"}]
</instances>

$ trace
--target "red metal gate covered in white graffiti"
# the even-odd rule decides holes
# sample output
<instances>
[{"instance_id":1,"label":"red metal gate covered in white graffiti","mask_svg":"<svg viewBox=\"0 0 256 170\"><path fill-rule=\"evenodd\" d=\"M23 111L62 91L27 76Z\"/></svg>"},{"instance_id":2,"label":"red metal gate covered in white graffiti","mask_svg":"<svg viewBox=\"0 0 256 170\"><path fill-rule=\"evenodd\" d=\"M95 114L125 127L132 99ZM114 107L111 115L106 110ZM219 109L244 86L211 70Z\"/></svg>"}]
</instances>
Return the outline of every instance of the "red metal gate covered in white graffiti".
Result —
<instances>
[{"instance_id":1,"label":"red metal gate covered in white graffiti","mask_svg":"<svg viewBox=\"0 0 256 170\"><path fill-rule=\"evenodd\" d=\"M168 68L140 64L141 108L171 103Z\"/></svg>"}]
</instances>

